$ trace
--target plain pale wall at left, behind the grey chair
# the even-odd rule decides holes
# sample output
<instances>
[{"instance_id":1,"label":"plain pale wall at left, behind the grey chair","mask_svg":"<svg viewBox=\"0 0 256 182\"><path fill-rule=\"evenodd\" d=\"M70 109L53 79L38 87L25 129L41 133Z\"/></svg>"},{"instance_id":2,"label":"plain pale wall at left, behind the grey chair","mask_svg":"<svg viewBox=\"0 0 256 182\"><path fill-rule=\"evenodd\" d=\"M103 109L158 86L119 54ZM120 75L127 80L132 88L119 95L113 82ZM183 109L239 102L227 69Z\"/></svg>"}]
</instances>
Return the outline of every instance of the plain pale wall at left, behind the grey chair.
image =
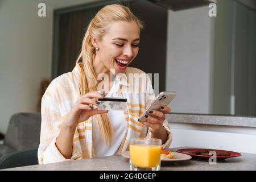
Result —
<instances>
[{"instance_id":1,"label":"plain pale wall at left, behind the grey chair","mask_svg":"<svg viewBox=\"0 0 256 182\"><path fill-rule=\"evenodd\" d=\"M0 132L11 115L35 112L39 83L51 77L53 9L93 0L0 0ZM39 18L38 3L47 16Z\"/></svg>"}]
</instances>

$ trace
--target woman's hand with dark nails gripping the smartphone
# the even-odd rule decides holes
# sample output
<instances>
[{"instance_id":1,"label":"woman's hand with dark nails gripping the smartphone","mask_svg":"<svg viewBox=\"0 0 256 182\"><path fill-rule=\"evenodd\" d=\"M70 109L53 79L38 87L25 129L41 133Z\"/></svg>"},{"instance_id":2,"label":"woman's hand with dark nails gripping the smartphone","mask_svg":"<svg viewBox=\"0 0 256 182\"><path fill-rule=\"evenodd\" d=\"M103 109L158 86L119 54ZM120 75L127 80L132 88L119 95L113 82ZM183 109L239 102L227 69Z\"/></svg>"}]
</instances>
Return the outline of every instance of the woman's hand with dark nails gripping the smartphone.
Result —
<instances>
[{"instance_id":1,"label":"woman's hand with dark nails gripping the smartphone","mask_svg":"<svg viewBox=\"0 0 256 182\"><path fill-rule=\"evenodd\" d=\"M152 134L159 135L161 133L161 129L163 129L164 119L166 119L166 113L171 113L171 108L168 106L161 106L161 111L150 110L148 114L144 114L144 118L147 121L141 121L143 125L149 127L149 130ZM165 130L165 129L164 129Z\"/></svg>"}]
</instances>

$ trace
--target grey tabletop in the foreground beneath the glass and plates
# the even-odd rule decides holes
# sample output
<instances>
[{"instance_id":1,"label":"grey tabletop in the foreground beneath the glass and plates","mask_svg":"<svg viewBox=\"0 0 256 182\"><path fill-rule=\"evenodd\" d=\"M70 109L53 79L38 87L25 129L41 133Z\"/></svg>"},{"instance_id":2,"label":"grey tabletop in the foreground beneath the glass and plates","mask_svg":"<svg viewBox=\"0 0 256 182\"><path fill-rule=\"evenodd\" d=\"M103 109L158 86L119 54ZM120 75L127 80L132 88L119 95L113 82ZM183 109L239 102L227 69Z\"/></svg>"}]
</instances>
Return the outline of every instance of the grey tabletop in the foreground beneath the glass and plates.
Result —
<instances>
[{"instance_id":1,"label":"grey tabletop in the foreground beneath the glass and plates","mask_svg":"<svg viewBox=\"0 0 256 182\"><path fill-rule=\"evenodd\" d=\"M183 147L184 148L184 147ZM190 148L190 147L185 147ZM173 149L175 151L176 148ZM96 170L96 171L129 171L129 159L122 155L106 156L102 158L72 160L69 162L51 163L44 165L26 166L18 168L9 168L5 170L33 170L33 171L81 171L81 170ZM161 170L199 170L199 171L219 171L219 170L256 170L256 155L242 153L242 156L237 158L229 158L217 164L209 164L199 160L185 160L180 162L164 162L161 164Z\"/></svg>"}]
</instances>

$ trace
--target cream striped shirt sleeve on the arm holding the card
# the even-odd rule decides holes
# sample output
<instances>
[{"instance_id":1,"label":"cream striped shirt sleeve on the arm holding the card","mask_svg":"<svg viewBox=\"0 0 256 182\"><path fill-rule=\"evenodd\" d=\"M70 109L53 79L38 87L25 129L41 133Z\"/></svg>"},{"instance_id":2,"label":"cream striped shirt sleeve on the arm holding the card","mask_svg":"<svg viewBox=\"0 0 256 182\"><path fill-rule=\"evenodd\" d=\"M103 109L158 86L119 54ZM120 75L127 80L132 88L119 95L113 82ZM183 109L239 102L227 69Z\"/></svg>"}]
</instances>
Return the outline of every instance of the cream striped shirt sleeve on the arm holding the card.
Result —
<instances>
[{"instance_id":1,"label":"cream striped shirt sleeve on the arm holding the card","mask_svg":"<svg viewBox=\"0 0 256 182\"><path fill-rule=\"evenodd\" d=\"M63 117L61 117L59 105L53 96L52 87L53 85L50 84L41 102L42 122L38 148L39 164L64 162L81 158L80 152L74 144L71 159L65 159L56 147L56 138L59 135Z\"/></svg>"}]
</instances>

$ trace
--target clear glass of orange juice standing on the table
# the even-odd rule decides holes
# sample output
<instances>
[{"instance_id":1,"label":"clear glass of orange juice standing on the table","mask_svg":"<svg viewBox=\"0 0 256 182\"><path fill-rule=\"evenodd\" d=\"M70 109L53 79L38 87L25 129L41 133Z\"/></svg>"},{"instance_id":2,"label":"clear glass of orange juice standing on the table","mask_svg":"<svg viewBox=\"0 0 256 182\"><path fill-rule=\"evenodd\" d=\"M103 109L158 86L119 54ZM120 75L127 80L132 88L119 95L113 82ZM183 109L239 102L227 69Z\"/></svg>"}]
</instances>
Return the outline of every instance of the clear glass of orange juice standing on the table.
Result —
<instances>
[{"instance_id":1,"label":"clear glass of orange juice standing on the table","mask_svg":"<svg viewBox=\"0 0 256 182\"><path fill-rule=\"evenodd\" d=\"M133 138L130 140L131 171L159 171L162 140Z\"/></svg>"}]
</instances>

